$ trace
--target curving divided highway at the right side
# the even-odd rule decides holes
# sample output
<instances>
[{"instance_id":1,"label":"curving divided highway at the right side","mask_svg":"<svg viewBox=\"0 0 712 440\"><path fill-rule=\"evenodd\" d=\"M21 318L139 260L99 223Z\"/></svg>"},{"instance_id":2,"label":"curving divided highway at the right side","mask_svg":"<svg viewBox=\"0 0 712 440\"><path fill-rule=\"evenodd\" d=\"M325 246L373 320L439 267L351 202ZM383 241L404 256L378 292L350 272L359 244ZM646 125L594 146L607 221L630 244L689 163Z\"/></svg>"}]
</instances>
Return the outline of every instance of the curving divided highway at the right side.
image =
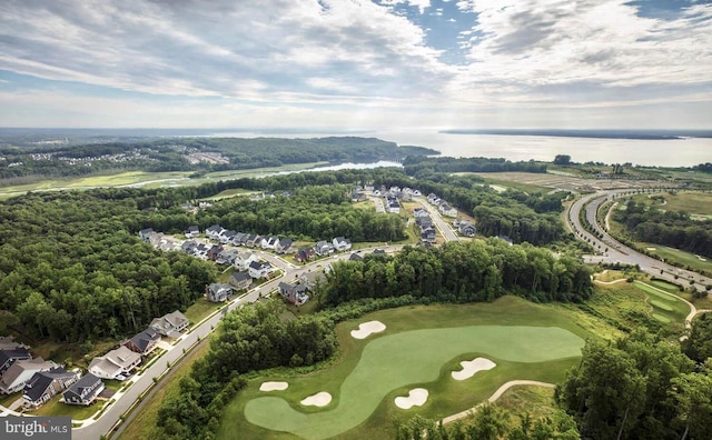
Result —
<instances>
[{"instance_id":1,"label":"curving divided highway at the right side","mask_svg":"<svg viewBox=\"0 0 712 440\"><path fill-rule=\"evenodd\" d=\"M706 286L712 284L712 279L703 277L696 272L675 268L674 266L666 264L654 258L644 256L611 237L596 221L596 212L601 204L612 197L617 197L621 193L630 192L630 190L610 190L601 191L594 194L590 194L576 200L568 210L568 220L573 224L574 233L581 240L590 240L592 246L599 249L602 254L589 256L585 258L586 262L621 262L631 266L639 266L643 272L650 273L657 278L665 279L672 283L690 287L690 281L698 290L704 291ZM586 204L587 203L587 204ZM583 207L586 206L586 220L593 224L594 229L602 234L602 239L586 232L580 221L580 212Z\"/></svg>"}]
</instances>

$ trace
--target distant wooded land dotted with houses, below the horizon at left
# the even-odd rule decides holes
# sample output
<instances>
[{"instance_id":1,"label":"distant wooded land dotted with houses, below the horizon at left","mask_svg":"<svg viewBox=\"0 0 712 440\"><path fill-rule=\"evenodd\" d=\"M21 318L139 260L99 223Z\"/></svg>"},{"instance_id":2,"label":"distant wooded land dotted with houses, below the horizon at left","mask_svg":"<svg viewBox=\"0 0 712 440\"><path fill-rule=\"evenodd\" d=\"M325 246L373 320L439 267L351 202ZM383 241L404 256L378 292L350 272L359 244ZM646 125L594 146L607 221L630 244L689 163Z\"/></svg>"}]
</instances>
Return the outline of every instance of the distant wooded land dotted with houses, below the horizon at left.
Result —
<instances>
[{"instance_id":1,"label":"distant wooded land dotted with houses, below the horizon at left","mask_svg":"<svg viewBox=\"0 0 712 440\"><path fill-rule=\"evenodd\" d=\"M0 179L88 176L119 170L225 171L289 163L375 162L438 154L375 138L169 138L0 149Z\"/></svg>"}]
</instances>

